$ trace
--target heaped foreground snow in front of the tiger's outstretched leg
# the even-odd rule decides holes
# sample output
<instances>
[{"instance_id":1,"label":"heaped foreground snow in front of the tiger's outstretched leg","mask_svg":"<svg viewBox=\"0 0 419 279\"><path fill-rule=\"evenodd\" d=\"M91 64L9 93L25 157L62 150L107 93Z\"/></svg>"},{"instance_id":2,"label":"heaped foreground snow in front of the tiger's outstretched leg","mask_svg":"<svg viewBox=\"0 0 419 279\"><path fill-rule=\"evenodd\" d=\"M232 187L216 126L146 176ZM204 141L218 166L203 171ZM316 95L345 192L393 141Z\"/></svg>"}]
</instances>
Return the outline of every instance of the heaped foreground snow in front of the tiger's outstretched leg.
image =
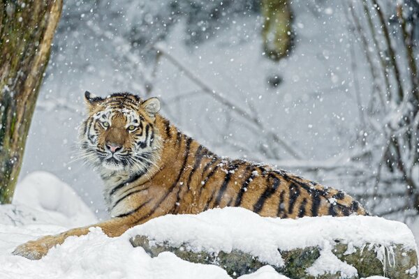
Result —
<instances>
[{"instance_id":1,"label":"heaped foreground snow in front of the tiger's outstretched leg","mask_svg":"<svg viewBox=\"0 0 419 279\"><path fill-rule=\"evenodd\" d=\"M1 228L1 227L0 227ZM16 232L17 233L17 232ZM0 239L4 236L0 233ZM1 250L0 241L0 250ZM193 264L170 252L149 257L141 248L133 248L126 236L109 238L101 229L93 228L85 236L69 237L61 246L52 248L39 261L0 253L1 279L30 278L142 278L142 279L230 279L219 266ZM288 279L271 267L260 269L240 279Z\"/></svg>"}]
</instances>

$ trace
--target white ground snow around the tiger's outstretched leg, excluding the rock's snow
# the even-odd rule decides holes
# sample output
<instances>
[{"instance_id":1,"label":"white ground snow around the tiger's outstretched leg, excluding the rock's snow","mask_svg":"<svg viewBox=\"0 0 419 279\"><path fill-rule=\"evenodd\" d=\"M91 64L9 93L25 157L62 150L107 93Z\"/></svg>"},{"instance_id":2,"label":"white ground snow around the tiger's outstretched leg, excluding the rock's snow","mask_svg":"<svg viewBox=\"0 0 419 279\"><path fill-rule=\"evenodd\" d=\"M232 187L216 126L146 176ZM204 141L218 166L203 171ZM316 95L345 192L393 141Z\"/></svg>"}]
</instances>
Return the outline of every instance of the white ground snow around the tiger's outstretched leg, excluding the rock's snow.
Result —
<instances>
[{"instance_id":1,"label":"white ground snow around the tiger's outstretched leg, excluding the rock's snow","mask_svg":"<svg viewBox=\"0 0 419 279\"><path fill-rule=\"evenodd\" d=\"M0 278L230 278L218 266L186 262L170 252L149 257L142 248L131 246L130 234L110 238L98 228L85 236L69 237L39 261L11 255L26 241L95 222L66 183L47 172L29 174L17 184L13 204L0 206ZM271 267L245 278L273 276L286 279Z\"/></svg>"}]
</instances>

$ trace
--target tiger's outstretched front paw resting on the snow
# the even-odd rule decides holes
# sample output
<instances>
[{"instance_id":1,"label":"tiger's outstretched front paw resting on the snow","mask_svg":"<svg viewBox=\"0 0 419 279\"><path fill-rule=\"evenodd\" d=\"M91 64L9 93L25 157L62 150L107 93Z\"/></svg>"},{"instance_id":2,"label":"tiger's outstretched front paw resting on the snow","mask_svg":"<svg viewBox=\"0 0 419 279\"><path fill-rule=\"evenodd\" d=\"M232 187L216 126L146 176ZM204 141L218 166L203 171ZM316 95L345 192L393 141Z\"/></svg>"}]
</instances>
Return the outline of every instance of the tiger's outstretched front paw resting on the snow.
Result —
<instances>
[{"instance_id":1,"label":"tiger's outstretched front paw resting on the snow","mask_svg":"<svg viewBox=\"0 0 419 279\"><path fill-rule=\"evenodd\" d=\"M26 257L28 259L41 259L47 255L50 248L59 244L60 241L55 236L44 236L35 241L28 241L17 246L12 252L13 255Z\"/></svg>"}]
</instances>

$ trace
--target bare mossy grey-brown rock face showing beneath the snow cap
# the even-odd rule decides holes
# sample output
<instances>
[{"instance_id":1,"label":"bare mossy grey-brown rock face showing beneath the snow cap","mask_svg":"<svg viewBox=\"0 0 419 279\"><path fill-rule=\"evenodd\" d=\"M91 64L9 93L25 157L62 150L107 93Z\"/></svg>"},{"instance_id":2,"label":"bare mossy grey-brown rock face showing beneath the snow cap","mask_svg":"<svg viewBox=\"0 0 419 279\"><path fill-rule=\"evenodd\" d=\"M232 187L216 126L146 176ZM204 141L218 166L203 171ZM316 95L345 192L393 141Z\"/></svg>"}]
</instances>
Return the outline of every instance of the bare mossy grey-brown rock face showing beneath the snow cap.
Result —
<instances>
[{"instance_id":1,"label":"bare mossy grey-brown rock face showing beneath the snow cap","mask_svg":"<svg viewBox=\"0 0 419 279\"><path fill-rule=\"evenodd\" d=\"M374 244L366 244L364 247L351 247L348 249L348 245L339 242L336 241L336 245L332 247L332 253L341 262L353 266L358 273L352 275L348 275L342 271L328 273L326 269L323 274L310 274L307 269L313 266L316 259L320 257L322 252L322 248L320 247L280 251L281 257L284 259L284 266L272 267L291 279L358 279L369 276L386 276L390 279L411 279L417 278L418 276L416 269L418 265L416 250L406 250L402 245L385 248L374 246ZM188 248L188 243L184 243L178 247L172 247L167 242L156 244L147 236L140 235L131 238L131 244L134 247L144 248L152 257L156 257L161 252L169 251L188 262L221 266L233 278L252 273L260 269L260 267L267 265L266 262L260 261L258 257L254 257L240 250L232 250L231 252L221 251L218 253L205 251L193 252Z\"/></svg>"}]
</instances>

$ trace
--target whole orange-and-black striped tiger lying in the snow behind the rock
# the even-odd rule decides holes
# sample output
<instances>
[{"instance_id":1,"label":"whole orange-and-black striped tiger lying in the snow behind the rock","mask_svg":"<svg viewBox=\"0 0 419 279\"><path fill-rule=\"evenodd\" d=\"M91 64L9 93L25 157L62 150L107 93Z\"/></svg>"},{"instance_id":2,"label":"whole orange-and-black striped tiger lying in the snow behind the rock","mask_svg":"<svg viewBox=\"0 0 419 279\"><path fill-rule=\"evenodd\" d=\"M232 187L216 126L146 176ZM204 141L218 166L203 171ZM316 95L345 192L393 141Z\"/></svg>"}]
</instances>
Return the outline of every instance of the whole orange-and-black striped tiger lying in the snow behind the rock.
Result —
<instances>
[{"instance_id":1,"label":"whole orange-and-black striped tiger lying in the snow behind the rock","mask_svg":"<svg viewBox=\"0 0 419 279\"><path fill-rule=\"evenodd\" d=\"M197 214L240 206L260 216L368 215L342 190L315 183L262 163L217 156L159 114L159 98L132 93L105 98L84 93L87 119L80 149L98 170L110 220L44 236L13 252L41 259L68 236L100 227L110 237L166 214Z\"/></svg>"}]
</instances>

